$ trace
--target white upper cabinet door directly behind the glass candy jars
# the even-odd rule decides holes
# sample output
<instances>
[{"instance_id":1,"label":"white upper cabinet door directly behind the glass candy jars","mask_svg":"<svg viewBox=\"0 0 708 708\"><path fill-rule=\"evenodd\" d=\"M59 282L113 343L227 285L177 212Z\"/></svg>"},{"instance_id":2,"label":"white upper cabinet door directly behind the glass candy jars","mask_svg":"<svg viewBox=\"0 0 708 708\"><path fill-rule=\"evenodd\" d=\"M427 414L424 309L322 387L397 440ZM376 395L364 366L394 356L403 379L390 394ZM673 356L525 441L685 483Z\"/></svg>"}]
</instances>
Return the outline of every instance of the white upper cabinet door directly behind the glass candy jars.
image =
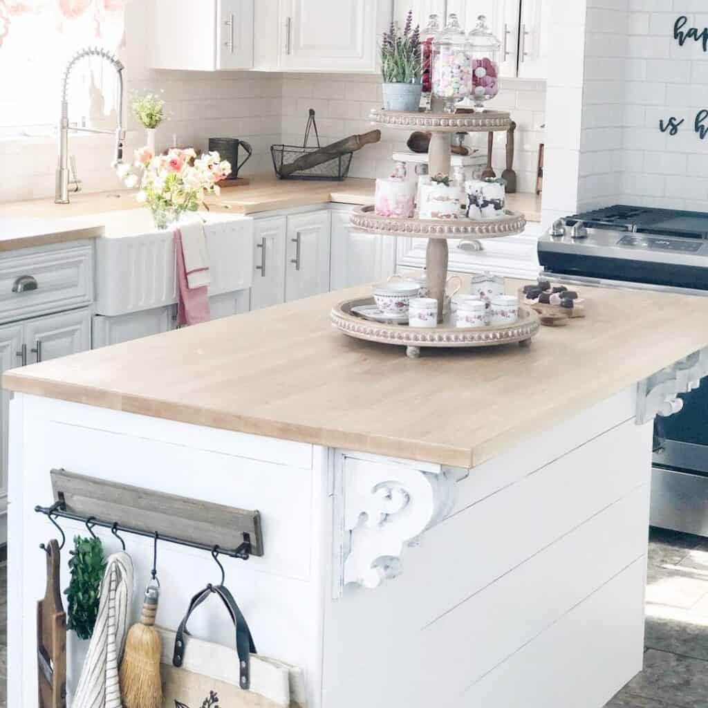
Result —
<instances>
[{"instance_id":1,"label":"white upper cabinet door directly behind the glass candy jars","mask_svg":"<svg viewBox=\"0 0 708 708\"><path fill-rule=\"evenodd\" d=\"M521 0L447 0L447 13L455 12L466 32L484 15L493 34L501 41L499 74L516 76ZM539 2L541 0L538 0Z\"/></svg>"}]
</instances>

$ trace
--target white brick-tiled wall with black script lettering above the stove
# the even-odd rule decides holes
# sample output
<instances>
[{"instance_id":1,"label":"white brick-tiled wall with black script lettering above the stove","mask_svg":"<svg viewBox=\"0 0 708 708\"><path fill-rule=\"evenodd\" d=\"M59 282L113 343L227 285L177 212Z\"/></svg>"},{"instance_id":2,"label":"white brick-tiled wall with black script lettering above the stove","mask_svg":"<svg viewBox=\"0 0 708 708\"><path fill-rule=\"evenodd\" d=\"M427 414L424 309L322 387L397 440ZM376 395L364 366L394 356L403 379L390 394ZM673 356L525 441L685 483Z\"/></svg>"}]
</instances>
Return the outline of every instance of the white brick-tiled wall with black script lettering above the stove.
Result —
<instances>
[{"instance_id":1,"label":"white brick-tiled wall with black script lettering above the stove","mask_svg":"<svg viewBox=\"0 0 708 708\"><path fill-rule=\"evenodd\" d=\"M708 209L708 53L673 25L708 27L705 0L588 0L578 208L627 202ZM659 121L685 119L678 135ZM707 123L708 124L708 123Z\"/></svg>"}]
</instances>

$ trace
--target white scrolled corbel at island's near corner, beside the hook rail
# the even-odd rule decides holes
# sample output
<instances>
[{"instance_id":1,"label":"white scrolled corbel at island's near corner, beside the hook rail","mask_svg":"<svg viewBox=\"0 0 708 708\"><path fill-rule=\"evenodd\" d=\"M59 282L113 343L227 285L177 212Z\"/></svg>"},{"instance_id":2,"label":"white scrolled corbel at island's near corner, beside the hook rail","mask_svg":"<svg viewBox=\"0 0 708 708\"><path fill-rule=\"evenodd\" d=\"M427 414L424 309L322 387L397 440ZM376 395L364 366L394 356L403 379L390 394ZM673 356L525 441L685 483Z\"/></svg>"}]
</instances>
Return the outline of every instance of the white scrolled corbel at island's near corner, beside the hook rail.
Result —
<instances>
[{"instance_id":1,"label":"white scrolled corbel at island's near corner, beside the hook rail","mask_svg":"<svg viewBox=\"0 0 708 708\"><path fill-rule=\"evenodd\" d=\"M450 514L467 470L339 452L334 484L333 595L377 588L403 571L406 547Z\"/></svg>"}]
</instances>

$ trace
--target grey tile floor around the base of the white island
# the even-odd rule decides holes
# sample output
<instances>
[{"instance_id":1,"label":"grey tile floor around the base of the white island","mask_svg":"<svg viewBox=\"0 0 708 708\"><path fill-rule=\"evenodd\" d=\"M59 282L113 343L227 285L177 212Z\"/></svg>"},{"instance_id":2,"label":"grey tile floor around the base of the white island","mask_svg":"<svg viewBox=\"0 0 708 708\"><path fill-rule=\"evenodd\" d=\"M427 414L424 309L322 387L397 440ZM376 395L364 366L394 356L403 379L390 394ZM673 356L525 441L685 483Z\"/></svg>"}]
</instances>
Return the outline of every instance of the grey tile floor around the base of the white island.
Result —
<instances>
[{"instance_id":1,"label":"grey tile floor around the base of the white island","mask_svg":"<svg viewBox=\"0 0 708 708\"><path fill-rule=\"evenodd\" d=\"M0 708L6 708L6 583L3 566ZM644 671L605 708L708 708L708 539L651 530Z\"/></svg>"}]
</instances>

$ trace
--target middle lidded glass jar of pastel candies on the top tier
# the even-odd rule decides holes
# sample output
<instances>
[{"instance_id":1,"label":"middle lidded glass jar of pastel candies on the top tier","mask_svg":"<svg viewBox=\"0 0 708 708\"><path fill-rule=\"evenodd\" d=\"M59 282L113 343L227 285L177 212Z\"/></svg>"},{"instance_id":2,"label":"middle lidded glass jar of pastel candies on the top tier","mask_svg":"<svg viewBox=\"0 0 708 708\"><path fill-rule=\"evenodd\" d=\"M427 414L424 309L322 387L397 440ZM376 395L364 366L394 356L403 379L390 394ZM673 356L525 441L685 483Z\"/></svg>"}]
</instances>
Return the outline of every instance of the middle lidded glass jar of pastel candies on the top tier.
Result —
<instances>
[{"instance_id":1,"label":"middle lidded glass jar of pastel candies on the top tier","mask_svg":"<svg viewBox=\"0 0 708 708\"><path fill-rule=\"evenodd\" d=\"M455 13L433 42L433 93L445 102L445 111L455 113L459 101L472 89L472 64L464 30Z\"/></svg>"}]
</instances>

